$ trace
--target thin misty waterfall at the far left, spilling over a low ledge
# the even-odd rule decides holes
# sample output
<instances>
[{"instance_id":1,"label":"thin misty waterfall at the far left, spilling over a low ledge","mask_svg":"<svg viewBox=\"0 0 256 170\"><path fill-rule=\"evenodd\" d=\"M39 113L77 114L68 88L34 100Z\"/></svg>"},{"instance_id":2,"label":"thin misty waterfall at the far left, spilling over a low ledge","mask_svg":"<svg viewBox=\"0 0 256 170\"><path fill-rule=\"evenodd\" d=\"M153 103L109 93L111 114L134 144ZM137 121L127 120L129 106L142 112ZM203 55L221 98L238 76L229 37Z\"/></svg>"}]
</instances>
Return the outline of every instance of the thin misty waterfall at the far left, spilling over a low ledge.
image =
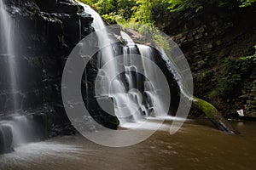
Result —
<instances>
[{"instance_id":1,"label":"thin misty waterfall at the far left, spilling over a low ledge","mask_svg":"<svg viewBox=\"0 0 256 170\"><path fill-rule=\"evenodd\" d=\"M9 110L13 115L6 114L6 117L0 117L0 153L12 151L14 147L20 144L35 141L38 135L35 133L35 125L32 116L21 116L18 97L20 87L17 84L16 57L15 54L15 35L12 26L13 20L5 10L3 0L0 0L0 57L7 62L5 74L7 77L6 85L3 88L8 89ZM1 89L3 90L3 89Z\"/></svg>"}]
</instances>

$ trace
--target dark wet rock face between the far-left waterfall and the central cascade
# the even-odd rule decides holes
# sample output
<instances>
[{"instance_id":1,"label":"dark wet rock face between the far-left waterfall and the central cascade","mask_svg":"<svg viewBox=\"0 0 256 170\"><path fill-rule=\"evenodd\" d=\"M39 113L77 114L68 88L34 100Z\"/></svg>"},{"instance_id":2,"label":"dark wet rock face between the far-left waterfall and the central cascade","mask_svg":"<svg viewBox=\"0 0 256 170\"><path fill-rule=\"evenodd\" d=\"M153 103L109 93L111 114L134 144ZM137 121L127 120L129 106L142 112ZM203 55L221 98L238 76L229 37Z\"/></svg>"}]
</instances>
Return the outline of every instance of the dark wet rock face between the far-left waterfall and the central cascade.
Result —
<instances>
[{"instance_id":1,"label":"dark wet rock face between the far-left waterfall and the central cascade","mask_svg":"<svg viewBox=\"0 0 256 170\"><path fill-rule=\"evenodd\" d=\"M5 4L14 23L15 77L19 90L15 92L18 110L12 111L12 92L4 84L7 56L0 55L0 121L14 112L32 112L34 120L47 131L46 137L74 133L62 105L61 76L74 46L94 31L90 26L93 18L73 0L6 0ZM93 63L97 63L96 59L90 62L88 75L96 74ZM93 100L93 96L88 100ZM117 119L97 108L94 116L100 117L99 122L116 128Z\"/></svg>"}]
</instances>

